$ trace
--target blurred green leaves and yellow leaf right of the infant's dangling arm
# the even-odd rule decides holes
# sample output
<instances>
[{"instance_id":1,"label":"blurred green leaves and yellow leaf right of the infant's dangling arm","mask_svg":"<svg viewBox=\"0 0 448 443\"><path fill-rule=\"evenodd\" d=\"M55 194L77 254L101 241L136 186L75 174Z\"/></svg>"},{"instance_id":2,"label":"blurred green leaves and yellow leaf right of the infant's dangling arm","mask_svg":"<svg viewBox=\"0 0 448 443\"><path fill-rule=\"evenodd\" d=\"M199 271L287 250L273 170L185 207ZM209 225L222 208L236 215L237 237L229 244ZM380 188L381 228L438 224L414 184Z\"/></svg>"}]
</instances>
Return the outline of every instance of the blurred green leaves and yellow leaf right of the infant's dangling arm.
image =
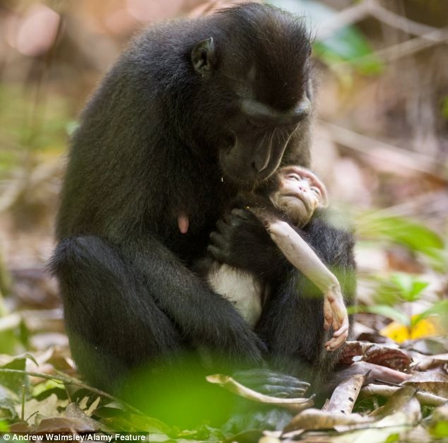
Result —
<instances>
[{"instance_id":1,"label":"blurred green leaves and yellow leaf right of the infant's dangling arm","mask_svg":"<svg viewBox=\"0 0 448 443\"><path fill-rule=\"evenodd\" d=\"M426 227L407 218L389 215L387 211L362 213L358 218L358 235L369 240L377 240L385 244L399 244L406 247L411 254L420 254L428 259L428 264L435 272L444 273L447 269L447 244L440 235ZM448 300L439 300L419 314L403 307L403 303L412 303L420 300L429 282L424 276L413 275L406 272L391 271L384 275L372 275L368 279L375 284L372 305L353 307L352 312L371 312L389 319L398 324L389 328L392 334L389 337L396 341L404 341L415 336L425 335L425 328L432 335L447 333L448 329L435 327L431 322L422 323L431 316L440 318L440 324L448 324ZM420 324L419 324L420 323ZM403 326L405 335L399 330ZM397 329L398 328L398 329ZM418 328L418 333L415 329Z\"/></svg>"}]
</instances>

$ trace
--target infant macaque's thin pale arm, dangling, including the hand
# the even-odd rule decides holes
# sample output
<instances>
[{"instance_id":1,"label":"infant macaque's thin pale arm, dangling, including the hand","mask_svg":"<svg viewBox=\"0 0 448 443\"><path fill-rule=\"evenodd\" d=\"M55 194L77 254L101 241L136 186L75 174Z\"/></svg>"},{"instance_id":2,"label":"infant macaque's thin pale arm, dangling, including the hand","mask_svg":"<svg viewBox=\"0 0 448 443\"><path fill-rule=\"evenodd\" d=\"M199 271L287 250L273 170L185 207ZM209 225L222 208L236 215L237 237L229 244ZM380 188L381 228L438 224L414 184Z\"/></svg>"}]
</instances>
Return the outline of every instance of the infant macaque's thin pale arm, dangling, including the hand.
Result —
<instances>
[{"instance_id":1,"label":"infant macaque's thin pale arm, dangling, including the hand","mask_svg":"<svg viewBox=\"0 0 448 443\"><path fill-rule=\"evenodd\" d=\"M348 314L338 279L289 223L266 217L258 208L251 208L251 211L264 223L286 259L324 293L324 329L333 326L335 331L325 347L327 350L338 348L348 337Z\"/></svg>"}]
</instances>

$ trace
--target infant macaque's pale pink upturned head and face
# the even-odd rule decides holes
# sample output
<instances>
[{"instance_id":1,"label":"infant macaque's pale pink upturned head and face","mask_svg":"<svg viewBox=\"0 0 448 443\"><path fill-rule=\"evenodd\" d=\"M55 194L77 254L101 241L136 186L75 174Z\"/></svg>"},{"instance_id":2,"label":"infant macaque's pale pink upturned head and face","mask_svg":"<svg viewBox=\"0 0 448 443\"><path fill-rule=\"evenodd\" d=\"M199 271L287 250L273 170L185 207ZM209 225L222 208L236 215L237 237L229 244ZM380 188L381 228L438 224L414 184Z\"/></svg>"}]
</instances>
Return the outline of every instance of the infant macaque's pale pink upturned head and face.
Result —
<instances>
[{"instance_id":1,"label":"infant macaque's pale pink upturned head and face","mask_svg":"<svg viewBox=\"0 0 448 443\"><path fill-rule=\"evenodd\" d=\"M285 166L277 175L278 189L269 197L297 226L306 225L317 208L327 206L324 184L307 168Z\"/></svg>"}]
</instances>

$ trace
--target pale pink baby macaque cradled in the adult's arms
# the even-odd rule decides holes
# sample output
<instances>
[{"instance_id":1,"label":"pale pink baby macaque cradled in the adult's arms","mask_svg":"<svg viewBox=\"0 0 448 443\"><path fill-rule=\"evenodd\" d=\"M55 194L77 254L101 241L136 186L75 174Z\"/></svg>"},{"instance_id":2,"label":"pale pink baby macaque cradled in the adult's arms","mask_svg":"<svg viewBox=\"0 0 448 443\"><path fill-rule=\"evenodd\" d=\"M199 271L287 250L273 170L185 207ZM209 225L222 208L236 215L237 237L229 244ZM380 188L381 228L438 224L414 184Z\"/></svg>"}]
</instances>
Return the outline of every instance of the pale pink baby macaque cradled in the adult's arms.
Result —
<instances>
[{"instance_id":1,"label":"pale pink baby macaque cradled in the adult's arms","mask_svg":"<svg viewBox=\"0 0 448 443\"><path fill-rule=\"evenodd\" d=\"M336 276L295 230L304 227L314 211L328 205L324 184L305 167L282 167L276 174L276 186L269 188L266 194L257 194L255 199L248 197L248 201L247 209L264 224L286 259L324 294L324 329L332 326L334 330L325 348L335 350L348 336L348 314L341 287ZM252 205L252 202L256 203ZM186 230L188 222L184 216L178 218L178 226L181 232ZM261 316L264 301L269 297L269 285L260 276L228 264L208 263L205 267L204 263L201 264L199 268L211 288L230 300L254 327Z\"/></svg>"}]
</instances>

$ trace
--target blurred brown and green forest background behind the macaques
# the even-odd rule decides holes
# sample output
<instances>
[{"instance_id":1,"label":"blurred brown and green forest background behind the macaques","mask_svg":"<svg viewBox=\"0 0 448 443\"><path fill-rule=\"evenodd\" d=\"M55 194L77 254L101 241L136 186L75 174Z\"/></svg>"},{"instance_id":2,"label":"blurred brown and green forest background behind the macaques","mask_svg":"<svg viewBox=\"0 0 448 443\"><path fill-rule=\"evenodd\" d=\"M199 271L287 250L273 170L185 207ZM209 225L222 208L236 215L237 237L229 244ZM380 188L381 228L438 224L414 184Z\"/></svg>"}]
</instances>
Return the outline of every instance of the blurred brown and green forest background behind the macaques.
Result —
<instances>
[{"instance_id":1,"label":"blurred brown and green forest background behind the macaques","mask_svg":"<svg viewBox=\"0 0 448 443\"><path fill-rule=\"evenodd\" d=\"M144 26L233 3L0 0L1 354L68 355L45 263L66 147L95 85ZM271 3L314 35L313 167L358 239L355 336L446 353L427 338L448 324L448 1Z\"/></svg>"}]
</instances>

